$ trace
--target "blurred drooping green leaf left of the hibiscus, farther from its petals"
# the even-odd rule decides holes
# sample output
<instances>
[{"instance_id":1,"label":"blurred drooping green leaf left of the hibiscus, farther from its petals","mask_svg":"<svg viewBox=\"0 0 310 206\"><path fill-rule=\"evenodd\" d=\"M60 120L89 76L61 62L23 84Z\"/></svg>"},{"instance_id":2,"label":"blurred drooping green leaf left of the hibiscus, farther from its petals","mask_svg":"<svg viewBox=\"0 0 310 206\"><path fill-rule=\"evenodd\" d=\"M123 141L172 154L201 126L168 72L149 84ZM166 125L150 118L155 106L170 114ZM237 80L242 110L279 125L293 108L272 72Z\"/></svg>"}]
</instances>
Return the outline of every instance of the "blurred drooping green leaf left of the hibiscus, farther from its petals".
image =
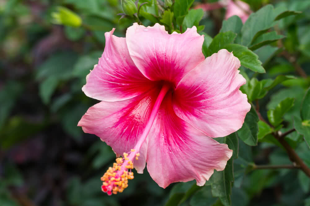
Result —
<instances>
[{"instance_id":1,"label":"blurred drooping green leaf left of the hibiscus, farther from its petals","mask_svg":"<svg viewBox=\"0 0 310 206\"><path fill-rule=\"evenodd\" d=\"M44 104L48 104L51 101L51 96L53 95L55 89L58 85L58 78L51 76L45 79L39 86L39 95Z\"/></svg>"}]
</instances>

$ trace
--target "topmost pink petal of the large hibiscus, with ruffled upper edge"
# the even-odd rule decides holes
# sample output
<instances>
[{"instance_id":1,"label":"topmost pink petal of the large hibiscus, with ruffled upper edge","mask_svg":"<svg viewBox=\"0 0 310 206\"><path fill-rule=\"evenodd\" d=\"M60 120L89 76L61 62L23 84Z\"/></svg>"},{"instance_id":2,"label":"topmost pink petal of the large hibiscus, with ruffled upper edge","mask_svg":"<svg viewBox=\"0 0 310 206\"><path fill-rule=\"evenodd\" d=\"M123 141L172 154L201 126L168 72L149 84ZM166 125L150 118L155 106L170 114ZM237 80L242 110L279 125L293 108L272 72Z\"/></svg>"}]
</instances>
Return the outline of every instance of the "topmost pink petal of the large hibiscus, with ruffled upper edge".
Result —
<instances>
[{"instance_id":1,"label":"topmost pink petal of the large hibiscus, with ruffled upper edge","mask_svg":"<svg viewBox=\"0 0 310 206\"><path fill-rule=\"evenodd\" d=\"M150 80L170 81L175 86L204 60L203 40L196 27L183 34L168 34L158 23L153 27L134 23L126 32L130 56L142 74Z\"/></svg>"}]
</instances>

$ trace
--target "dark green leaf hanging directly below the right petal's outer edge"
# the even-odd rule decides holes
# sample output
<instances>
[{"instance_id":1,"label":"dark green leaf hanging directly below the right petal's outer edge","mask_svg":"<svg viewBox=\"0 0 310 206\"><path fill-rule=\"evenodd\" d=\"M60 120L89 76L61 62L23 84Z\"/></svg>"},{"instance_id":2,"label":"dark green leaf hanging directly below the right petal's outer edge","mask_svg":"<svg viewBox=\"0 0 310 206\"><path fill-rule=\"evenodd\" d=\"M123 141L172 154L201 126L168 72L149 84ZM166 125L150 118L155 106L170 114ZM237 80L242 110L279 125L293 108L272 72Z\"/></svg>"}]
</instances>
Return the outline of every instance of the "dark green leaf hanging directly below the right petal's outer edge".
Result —
<instances>
[{"instance_id":1,"label":"dark green leaf hanging directly below the right petal's outer edge","mask_svg":"<svg viewBox=\"0 0 310 206\"><path fill-rule=\"evenodd\" d=\"M253 107L246 114L242 127L237 131L239 138L250 146L257 145L258 115Z\"/></svg>"}]
</instances>

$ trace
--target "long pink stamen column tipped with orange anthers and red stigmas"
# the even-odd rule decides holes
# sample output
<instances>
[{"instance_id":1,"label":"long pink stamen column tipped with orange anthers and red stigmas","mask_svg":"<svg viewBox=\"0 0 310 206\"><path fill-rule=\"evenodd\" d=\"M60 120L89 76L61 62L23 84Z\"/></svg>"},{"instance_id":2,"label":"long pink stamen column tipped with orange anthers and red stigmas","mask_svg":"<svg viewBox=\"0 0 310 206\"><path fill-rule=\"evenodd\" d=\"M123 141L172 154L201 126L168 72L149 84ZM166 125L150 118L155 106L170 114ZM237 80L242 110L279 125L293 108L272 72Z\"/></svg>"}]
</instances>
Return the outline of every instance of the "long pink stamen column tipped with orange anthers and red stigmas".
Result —
<instances>
[{"instance_id":1,"label":"long pink stamen column tipped with orange anthers and red stigmas","mask_svg":"<svg viewBox=\"0 0 310 206\"><path fill-rule=\"evenodd\" d=\"M106 192L108 195L117 194L117 192L122 192L126 187L128 187L128 179L133 179L134 175L131 169L134 168L134 161L138 160L139 149L141 148L143 142L145 141L148 133L151 130L157 112L159 110L160 104L164 99L165 95L170 89L169 84L164 84L160 90L154 107L152 109L150 118L144 128L144 131L139 138L139 141L135 145L134 149L131 149L129 153L123 153L123 158L116 158L116 163L113 163L113 167L109 167L107 172L101 177L103 181L101 190ZM128 171L129 170L129 171Z\"/></svg>"}]
</instances>

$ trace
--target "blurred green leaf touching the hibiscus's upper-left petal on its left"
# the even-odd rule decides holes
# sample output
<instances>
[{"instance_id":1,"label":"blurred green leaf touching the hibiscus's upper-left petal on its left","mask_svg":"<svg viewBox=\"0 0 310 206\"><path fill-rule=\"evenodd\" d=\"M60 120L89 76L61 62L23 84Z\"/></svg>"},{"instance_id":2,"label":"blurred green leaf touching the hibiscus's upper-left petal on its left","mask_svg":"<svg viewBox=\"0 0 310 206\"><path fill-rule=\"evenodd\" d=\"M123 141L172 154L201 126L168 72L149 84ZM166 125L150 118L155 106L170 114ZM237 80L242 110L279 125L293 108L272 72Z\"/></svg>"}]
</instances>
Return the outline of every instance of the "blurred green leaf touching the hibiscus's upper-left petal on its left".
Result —
<instances>
[{"instance_id":1,"label":"blurred green leaf touching the hibiscus's upper-left petal on its left","mask_svg":"<svg viewBox=\"0 0 310 206\"><path fill-rule=\"evenodd\" d=\"M76 77L85 78L90 70L94 69L94 65L98 64L98 59L101 57L102 51L94 51L82 57L79 57L73 68L73 75Z\"/></svg>"}]
</instances>

